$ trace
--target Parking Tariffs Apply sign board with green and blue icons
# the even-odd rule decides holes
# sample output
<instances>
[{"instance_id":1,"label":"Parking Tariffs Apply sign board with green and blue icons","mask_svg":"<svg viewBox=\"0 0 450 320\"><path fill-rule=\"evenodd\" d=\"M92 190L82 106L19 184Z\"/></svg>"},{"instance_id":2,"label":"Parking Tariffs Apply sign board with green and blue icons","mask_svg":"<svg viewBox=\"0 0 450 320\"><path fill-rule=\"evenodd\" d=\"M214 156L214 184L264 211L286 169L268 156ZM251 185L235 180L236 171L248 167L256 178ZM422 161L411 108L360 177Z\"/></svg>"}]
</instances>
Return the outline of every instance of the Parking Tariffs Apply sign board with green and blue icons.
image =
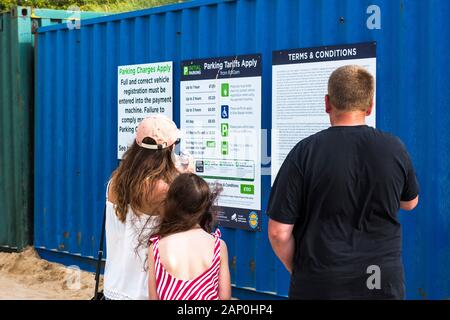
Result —
<instances>
[{"instance_id":1,"label":"Parking Tariffs Apply sign board with green and blue icons","mask_svg":"<svg viewBox=\"0 0 450 320\"><path fill-rule=\"evenodd\" d=\"M222 185L221 226L260 230L261 57L181 64L180 116L196 174Z\"/></svg>"}]
</instances>

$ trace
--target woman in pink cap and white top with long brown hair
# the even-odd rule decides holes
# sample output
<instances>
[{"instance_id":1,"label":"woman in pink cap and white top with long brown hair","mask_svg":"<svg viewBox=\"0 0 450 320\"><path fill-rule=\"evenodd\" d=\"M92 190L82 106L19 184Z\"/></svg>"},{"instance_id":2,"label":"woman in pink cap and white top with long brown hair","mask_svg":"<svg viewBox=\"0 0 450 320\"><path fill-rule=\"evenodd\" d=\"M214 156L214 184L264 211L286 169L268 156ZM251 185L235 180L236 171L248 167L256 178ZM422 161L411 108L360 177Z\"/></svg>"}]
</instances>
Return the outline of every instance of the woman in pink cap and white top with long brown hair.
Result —
<instances>
[{"instance_id":1,"label":"woman in pink cap and white top with long brown hair","mask_svg":"<svg viewBox=\"0 0 450 320\"><path fill-rule=\"evenodd\" d=\"M179 174L173 152L179 139L180 131L170 119L144 119L112 174L106 199L106 299L148 299L147 250L138 245L138 238L146 229L151 231L169 185Z\"/></svg>"}]
</instances>

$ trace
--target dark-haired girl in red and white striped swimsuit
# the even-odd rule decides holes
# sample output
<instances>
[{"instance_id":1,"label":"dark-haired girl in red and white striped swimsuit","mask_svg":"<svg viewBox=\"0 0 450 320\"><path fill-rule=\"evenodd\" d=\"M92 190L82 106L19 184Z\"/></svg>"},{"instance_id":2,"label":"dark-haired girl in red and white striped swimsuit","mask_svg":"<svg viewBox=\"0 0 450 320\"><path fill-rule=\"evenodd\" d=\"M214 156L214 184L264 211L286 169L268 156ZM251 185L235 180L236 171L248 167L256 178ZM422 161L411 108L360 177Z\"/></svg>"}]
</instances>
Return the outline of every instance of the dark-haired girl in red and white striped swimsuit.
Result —
<instances>
[{"instance_id":1,"label":"dark-haired girl in red and white striped swimsuit","mask_svg":"<svg viewBox=\"0 0 450 320\"><path fill-rule=\"evenodd\" d=\"M230 299L227 247L219 230L210 234L215 220L211 206L218 193L192 173L171 184L157 236L150 238L150 299Z\"/></svg>"}]
</instances>

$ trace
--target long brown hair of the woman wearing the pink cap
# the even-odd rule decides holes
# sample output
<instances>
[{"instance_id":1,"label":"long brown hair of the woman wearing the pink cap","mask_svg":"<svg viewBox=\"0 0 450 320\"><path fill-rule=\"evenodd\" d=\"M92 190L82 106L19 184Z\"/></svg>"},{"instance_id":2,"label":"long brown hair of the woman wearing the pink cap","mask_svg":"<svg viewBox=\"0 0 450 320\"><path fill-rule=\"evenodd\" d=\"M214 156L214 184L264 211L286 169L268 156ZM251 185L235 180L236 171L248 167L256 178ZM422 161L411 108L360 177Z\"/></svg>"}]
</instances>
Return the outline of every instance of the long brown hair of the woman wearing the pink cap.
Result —
<instances>
[{"instance_id":1,"label":"long brown hair of the woman wearing the pink cap","mask_svg":"<svg viewBox=\"0 0 450 320\"><path fill-rule=\"evenodd\" d=\"M151 138L144 143L154 144ZM112 192L115 195L116 215L125 222L128 206L136 213L158 215L160 201L154 189L159 181L170 184L178 174L172 160L172 148L151 150L140 147L136 141L125 152L122 162L112 174ZM159 202L159 203L155 203Z\"/></svg>"}]
</instances>

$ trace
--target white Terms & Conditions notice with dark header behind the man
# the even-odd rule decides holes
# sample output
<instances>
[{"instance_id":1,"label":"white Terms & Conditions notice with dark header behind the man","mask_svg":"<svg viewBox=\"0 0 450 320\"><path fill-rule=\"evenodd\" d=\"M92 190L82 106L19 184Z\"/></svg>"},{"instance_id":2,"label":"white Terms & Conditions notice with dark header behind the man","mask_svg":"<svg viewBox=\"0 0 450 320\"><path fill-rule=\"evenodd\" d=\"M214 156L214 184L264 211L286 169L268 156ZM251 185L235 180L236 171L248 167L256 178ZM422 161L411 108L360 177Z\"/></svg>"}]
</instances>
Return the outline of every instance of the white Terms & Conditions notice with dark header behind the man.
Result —
<instances>
[{"instance_id":1,"label":"white Terms & Conditions notice with dark header behind the man","mask_svg":"<svg viewBox=\"0 0 450 320\"><path fill-rule=\"evenodd\" d=\"M291 149L330 126L325 95L331 73L344 65L367 68L376 79L375 43L273 52L272 184ZM375 108L366 119L375 127Z\"/></svg>"}]
</instances>

